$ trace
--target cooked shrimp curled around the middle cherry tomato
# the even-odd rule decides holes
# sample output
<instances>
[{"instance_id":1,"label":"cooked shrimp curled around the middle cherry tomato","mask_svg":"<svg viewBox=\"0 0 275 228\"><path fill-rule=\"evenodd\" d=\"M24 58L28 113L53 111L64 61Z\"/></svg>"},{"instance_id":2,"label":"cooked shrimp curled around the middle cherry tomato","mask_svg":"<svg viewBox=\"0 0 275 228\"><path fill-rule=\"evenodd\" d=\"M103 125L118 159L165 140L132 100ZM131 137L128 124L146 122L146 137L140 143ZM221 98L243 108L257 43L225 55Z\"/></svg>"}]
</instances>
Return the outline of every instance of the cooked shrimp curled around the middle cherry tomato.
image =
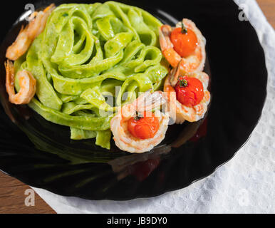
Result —
<instances>
[{"instance_id":1,"label":"cooked shrimp curled around the middle cherry tomato","mask_svg":"<svg viewBox=\"0 0 275 228\"><path fill-rule=\"evenodd\" d=\"M177 97L177 93L175 90L175 86L179 82L180 76L180 63L177 68L173 68L165 79L164 92L167 93L167 112L170 113L172 119L175 120L175 123L183 123L185 120L189 122L194 122L200 120L204 117L204 114L207 111L207 105L210 101L210 93L207 90L207 86L209 83L209 76L204 72L193 72L193 73L185 73L186 78L197 78L202 83L202 91L201 91L201 100L196 103L194 98L197 98L197 95L193 95L194 98L183 98L182 100L187 102L191 102L194 105L185 105L182 104ZM196 91L194 91L196 90ZM194 88L190 93L196 93L197 88ZM184 100L185 99L185 100Z\"/></svg>"}]
</instances>

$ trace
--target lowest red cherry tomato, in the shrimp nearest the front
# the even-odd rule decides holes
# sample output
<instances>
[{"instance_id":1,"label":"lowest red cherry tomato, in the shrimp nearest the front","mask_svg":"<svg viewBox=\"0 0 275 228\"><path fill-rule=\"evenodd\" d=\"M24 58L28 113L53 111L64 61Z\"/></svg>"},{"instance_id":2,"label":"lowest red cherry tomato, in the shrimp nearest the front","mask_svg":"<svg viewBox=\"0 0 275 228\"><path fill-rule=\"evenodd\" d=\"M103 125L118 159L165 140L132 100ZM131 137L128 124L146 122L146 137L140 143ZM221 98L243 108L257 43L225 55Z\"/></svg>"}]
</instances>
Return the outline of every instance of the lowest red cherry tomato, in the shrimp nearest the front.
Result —
<instances>
[{"instance_id":1,"label":"lowest red cherry tomato, in the shrimp nearest the front","mask_svg":"<svg viewBox=\"0 0 275 228\"><path fill-rule=\"evenodd\" d=\"M128 130L135 138L153 138L160 128L160 122L152 112L139 113L128 120Z\"/></svg>"}]
</instances>

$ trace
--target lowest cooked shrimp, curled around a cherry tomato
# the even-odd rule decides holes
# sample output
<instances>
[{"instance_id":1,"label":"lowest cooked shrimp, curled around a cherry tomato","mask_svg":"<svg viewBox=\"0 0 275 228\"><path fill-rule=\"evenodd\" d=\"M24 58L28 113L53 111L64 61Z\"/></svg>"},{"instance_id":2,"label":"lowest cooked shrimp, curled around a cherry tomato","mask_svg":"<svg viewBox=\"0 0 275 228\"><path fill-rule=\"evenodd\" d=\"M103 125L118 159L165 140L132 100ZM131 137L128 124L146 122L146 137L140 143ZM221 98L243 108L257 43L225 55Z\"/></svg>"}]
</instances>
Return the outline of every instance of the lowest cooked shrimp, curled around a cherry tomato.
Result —
<instances>
[{"instance_id":1,"label":"lowest cooked shrimp, curled around a cherry tomato","mask_svg":"<svg viewBox=\"0 0 275 228\"><path fill-rule=\"evenodd\" d=\"M165 138L170 116L168 113L161 113L160 110L155 110L155 112L152 113L152 109L158 108L164 103L166 103L166 99L161 91L154 93L145 92L133 103L120 108L117 115L115 115L110 122L110 130L112 130L115 145L117 145L120 150L137 153L152 150L155 145L158 145ZM146 114L143 117L138 117L137 113ZM135 116L135 114L137 115ZM132 125L130 125L133 121L137 123L137 125L139 122L142 124L146 122L146 118L150 119L145 125L139 125L138 129L132 128ZM137 130L137 132L133 133L133 130ZM142 137L140 130L141 133L142 130L152 130L153 132L146 132L146 137Z\"/></svg>"}]
</instances>

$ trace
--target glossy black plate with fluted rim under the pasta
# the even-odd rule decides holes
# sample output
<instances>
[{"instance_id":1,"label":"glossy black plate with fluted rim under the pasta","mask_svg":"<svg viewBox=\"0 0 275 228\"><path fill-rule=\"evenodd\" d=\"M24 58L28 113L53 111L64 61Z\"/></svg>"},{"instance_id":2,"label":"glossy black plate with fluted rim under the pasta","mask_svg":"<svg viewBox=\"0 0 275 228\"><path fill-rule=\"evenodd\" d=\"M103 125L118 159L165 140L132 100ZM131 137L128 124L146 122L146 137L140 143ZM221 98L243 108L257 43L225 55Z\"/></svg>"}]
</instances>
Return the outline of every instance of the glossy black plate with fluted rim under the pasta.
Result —
<instances>
[{"instance_id":1,"label":"glossy black plate with fluted rim under the pasta","mask_svg":"<svg viewBox=\"0 0 275 228\"><path fill-rule=\"evenodd\" d=\"M108 151L95 146L93 140L71 141L68 128L7 100L4 55L22 22L17 21L12 28L11 24L29 2L21 1L16 9L12 2L6 2L10 8L1 9L1 20L5 21L2 38L7 36L0 50L4 107L0 110L0 169L9 175L59 195L85 199L152 197L187 187L214 172L234 156L256 126L266 98L264 51L249 21L239 21L240 11L232 0L127 1L164 23L172 24L170 15L177 20L192 19L202 31L210 66L206 71L211 70L212 103L207 119L171 125L160 146L139 155L122 152L114 144ZM36 9L51 2L40 1ZM14 13L4 18L6 9L14 9Z\"/></svg>"}]
</instances>

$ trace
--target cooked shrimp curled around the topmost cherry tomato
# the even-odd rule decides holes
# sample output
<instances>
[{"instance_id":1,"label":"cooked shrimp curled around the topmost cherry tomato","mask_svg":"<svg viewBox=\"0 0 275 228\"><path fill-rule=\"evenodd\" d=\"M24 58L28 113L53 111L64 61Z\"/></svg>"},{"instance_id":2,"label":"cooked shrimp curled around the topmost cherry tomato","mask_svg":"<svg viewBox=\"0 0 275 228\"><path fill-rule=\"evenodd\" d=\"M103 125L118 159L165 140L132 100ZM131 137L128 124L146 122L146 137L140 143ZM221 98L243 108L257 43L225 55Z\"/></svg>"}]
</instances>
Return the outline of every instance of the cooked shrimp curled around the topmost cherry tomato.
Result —
<instances>
[{"instance_id":1,"label":"cooked shrimp curled around the topmost cherry tomato","mask_svg":"<svg viewBox=\"0 0 275 228\"><path fill-rule=\"evenodd\" d=\"M175 46L171 41L171 34L175 28L172 28L169 25L163 25L159 29L160 48L162 53L173 68L176 68L182 60L180 65L180 73L202 71L205 63L205 38L202 36L202 33L199 31L196 25L189 19L182 19L182 22L177 23L176 28L179 29L182 27L183 29L183 26L185 26L185 29L187 29L186 31L190 30L192 34L194 34L194 39L196 39L196 41L194 41L194 51L192 51L192 53L190 53L188 56L180 56L180 53L175 51ZM188 38L188 41L190 41L190 38ZM188 46L190 46L190 44L188 44ZM180 48L182 48L181 45L177 49ZM186 52L186 50L183 49L180 51Z\"/></svg>"}]
</instances>

